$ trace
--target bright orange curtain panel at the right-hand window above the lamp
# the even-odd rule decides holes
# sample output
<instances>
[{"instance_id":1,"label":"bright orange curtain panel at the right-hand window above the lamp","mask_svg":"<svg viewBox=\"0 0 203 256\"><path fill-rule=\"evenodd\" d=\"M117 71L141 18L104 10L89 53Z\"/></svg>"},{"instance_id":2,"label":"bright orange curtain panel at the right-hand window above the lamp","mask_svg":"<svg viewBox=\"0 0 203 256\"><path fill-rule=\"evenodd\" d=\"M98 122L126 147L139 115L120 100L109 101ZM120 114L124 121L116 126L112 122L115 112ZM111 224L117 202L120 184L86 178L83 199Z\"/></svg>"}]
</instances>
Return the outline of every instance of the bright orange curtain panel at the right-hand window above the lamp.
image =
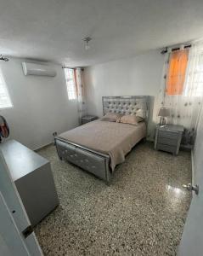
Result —
<instances>
[{"instance_id":1,"label":"bright orange curtain panel at the right-hand window above the lamp","mask_svg":"<svg viewBox=\"0 0 203 256\"><path fill-rule=\"evenodd\" d=\"M167 95L182 95L188 56L188 49L181 49L172 52L169 60L166 81Z\"/></svg>"}]
</instances>

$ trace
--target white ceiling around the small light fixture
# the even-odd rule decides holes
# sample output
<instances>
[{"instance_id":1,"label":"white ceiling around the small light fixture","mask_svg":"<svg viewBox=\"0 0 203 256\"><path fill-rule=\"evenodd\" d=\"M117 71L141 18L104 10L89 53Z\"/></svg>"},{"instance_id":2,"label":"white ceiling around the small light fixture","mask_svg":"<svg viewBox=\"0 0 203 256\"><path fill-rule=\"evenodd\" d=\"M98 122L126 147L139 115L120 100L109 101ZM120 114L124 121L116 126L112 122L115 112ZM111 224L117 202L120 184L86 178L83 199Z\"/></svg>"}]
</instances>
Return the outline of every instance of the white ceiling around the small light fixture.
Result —
<instances>
[{"instance_id":1,"label":"white ceiling around the small light fixture","mask_svg":"<svg viewBox=\"0 0 203 256\"><path fill-rule=\"evenodd\" d=\"M0 54L15 57L84 67L201 37L203 0L0 1Z\"/></svg>"}]
</instances>

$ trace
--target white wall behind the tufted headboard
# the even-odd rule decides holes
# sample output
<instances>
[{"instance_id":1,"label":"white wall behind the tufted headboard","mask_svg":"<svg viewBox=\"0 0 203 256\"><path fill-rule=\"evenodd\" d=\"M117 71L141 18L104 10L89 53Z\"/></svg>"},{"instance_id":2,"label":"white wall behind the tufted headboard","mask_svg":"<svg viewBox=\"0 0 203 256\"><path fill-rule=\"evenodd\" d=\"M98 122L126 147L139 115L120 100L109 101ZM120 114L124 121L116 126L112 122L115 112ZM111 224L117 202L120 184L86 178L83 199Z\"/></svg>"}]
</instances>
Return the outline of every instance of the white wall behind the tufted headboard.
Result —
<instances>
[{"instance_id":1,"label":"white wall behind the tufted headboard","mask_svg":"<svg viewBox=\"0 0 203 256\"><path fill-rule=\"evenodd\" d=\"M164 56L160 51L152 50L133 58L85 68L87 113L102 116L102 96L152 96L149 124L149 137L152 139L163 63Z\"/></svg>"}]
</instances>

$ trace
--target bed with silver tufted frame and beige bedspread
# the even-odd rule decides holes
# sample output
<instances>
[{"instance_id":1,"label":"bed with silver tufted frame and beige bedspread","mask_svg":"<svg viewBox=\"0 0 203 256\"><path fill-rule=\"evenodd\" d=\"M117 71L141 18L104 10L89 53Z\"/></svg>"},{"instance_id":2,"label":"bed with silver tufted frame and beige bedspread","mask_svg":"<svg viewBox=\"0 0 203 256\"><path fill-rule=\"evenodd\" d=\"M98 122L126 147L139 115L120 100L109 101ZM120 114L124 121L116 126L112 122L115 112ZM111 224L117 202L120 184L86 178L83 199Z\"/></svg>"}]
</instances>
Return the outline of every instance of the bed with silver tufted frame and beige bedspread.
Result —
<instances>
[{"instance_id":1,"label":"bed with silver tufted frame and beige bedspread","mask_svg":"<svg viewBox=\"0 0 203 256\"><path fill-rule=\"evenodd\" d=\"M55 137L60 160L81 167L110 183L115 167L147 136L149 96L104 96L103 113L144 113L138 125L97 119Z\"/></svg>"}]
</instances>

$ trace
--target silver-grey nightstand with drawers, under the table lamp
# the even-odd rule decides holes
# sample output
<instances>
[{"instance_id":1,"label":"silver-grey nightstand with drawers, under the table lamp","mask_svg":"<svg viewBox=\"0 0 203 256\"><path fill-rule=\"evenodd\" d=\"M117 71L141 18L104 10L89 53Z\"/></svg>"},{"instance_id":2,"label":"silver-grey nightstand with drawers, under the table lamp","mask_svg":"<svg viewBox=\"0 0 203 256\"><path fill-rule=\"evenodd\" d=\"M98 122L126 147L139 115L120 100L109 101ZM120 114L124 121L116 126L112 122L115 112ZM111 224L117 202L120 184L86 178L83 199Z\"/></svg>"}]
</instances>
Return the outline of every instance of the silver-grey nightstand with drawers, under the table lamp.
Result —
<instances>
[{"instance_id":1,"label":"silver-grey nightstand with drawers, under the table lamp","mask_svg":"<svg viewBox=\"0 0 203 256\"><path fill-rule=\"evenodd\" d=\"M177 155L183 130L183 125L157 125L155 129L155 149Z\"/></svg>"}]
</instances>

